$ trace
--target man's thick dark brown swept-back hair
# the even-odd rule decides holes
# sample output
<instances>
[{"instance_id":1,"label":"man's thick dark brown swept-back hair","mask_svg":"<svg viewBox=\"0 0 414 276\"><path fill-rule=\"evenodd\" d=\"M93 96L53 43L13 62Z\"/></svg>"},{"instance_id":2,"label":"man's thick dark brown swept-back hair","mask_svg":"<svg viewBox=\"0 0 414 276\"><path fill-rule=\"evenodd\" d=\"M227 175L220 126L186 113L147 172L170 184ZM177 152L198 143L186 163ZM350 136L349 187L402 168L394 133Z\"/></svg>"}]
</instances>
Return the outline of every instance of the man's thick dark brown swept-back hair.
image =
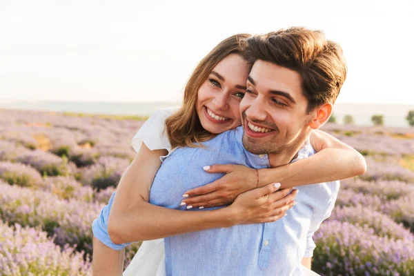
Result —
<instances>
[{"instance_id":1,"label":"man's thick dark brown swept-back hair","mask_svg":"<svg viewBox=\"0 0 414 276\"><path fill-rule=\"evenodd\" d=\"M341 46L326 39L324 32L292 27L245 42L251 64L260 59L299 72L308 113L324 103L335 103L346 79L346 62Z\"/></svg>"}]
</instances>

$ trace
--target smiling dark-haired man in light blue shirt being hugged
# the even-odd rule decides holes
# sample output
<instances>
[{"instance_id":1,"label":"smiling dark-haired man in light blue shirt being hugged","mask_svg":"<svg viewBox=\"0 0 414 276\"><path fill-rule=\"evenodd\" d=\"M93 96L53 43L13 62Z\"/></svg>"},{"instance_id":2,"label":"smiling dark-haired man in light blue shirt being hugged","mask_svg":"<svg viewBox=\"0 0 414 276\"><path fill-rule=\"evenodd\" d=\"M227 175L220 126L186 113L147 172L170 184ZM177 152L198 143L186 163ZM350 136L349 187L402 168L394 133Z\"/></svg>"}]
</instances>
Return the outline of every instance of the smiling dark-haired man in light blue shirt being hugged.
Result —
<instances>
[{"instance_id":1,"label":"smiling dark-haired man in light blue shirt being hugged","mask_svg":"<svg viewBox=\"0 0 414 276\"><path fill-rule=\"evenodd\" d=\"M167 159L157 172L150 203L179 208L184 191L219 177L199 172L207 160L266 168L314 153L308 137L330 117L346 78L341 48L322 32L305 28L271 32L247 43L254 64L240 106L243 128L222 133L203 143L205 148L172 152L177 158ZM195 173L189 178L188 172ZM302 275L300 264L311 266L312 236L331 214L339 182L297 190L297 205L278 221L167 237L167 275Z\"/></svg>"}]
</instances>

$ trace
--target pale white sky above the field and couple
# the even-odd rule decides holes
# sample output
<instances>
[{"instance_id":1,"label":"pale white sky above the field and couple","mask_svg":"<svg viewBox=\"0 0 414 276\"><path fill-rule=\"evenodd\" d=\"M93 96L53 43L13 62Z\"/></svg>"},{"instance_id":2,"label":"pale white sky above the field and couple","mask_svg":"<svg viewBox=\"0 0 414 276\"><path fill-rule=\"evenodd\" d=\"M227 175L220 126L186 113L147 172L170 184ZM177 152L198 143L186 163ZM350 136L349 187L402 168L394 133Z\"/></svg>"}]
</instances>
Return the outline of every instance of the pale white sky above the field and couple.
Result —
<instances>
[{"instance_id":1,"label":"pale white sky above the field and couple","mask_svg":"<svg viewBox=\"0 0 414 276\"><path fill-rule=\"evenodd\" d=\"M344 49L337 102L414 105L413 3L0 0L0 100L180 101L222 39L305 26Z\"/></svg>"}]
</instances>

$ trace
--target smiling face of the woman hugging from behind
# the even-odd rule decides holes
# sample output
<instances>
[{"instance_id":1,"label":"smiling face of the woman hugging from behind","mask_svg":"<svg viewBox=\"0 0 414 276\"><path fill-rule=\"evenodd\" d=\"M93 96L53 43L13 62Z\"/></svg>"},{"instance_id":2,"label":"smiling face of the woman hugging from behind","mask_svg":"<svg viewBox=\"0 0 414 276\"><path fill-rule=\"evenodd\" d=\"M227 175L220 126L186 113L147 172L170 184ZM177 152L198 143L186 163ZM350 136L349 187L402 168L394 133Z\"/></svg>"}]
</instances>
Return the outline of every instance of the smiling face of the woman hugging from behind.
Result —
<instances>
[{"instance_id":1,"label":"smiling face of the woman hugging from behind","mask_svg":"<svg viewBox=\"0 0 414 276\"><path fill-rule=\"evenodd\" d=\"M246 60L230 54L210 72L198 90L196 103L205 130L219 134L242 124L239 104L246 92L248 71Z\"/></svg>"}]
</instances>

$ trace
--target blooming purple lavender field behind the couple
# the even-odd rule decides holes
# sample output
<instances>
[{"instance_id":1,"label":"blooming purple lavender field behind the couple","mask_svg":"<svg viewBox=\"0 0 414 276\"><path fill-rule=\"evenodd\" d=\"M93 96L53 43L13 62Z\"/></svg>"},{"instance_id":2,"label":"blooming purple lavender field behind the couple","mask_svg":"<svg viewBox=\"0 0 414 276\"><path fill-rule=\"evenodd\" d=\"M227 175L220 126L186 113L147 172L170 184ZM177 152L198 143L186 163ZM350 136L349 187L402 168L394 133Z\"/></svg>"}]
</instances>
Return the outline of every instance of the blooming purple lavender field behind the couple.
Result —
<instances>
[{"instance_id":1,"label":"blooming purple lavender field behind the couple","mask_svg":"<svg viewBox=\"0 0 414 276\"><path fill-rule=\"evenodd\" d=\"M92 220L139 118L0 109L0 275L90 275ZM414 275L414 128L328 124L366 156L314 236L321 275ZM139 248L127 248L126 265Z\"/></svg>"}]
</instances>

